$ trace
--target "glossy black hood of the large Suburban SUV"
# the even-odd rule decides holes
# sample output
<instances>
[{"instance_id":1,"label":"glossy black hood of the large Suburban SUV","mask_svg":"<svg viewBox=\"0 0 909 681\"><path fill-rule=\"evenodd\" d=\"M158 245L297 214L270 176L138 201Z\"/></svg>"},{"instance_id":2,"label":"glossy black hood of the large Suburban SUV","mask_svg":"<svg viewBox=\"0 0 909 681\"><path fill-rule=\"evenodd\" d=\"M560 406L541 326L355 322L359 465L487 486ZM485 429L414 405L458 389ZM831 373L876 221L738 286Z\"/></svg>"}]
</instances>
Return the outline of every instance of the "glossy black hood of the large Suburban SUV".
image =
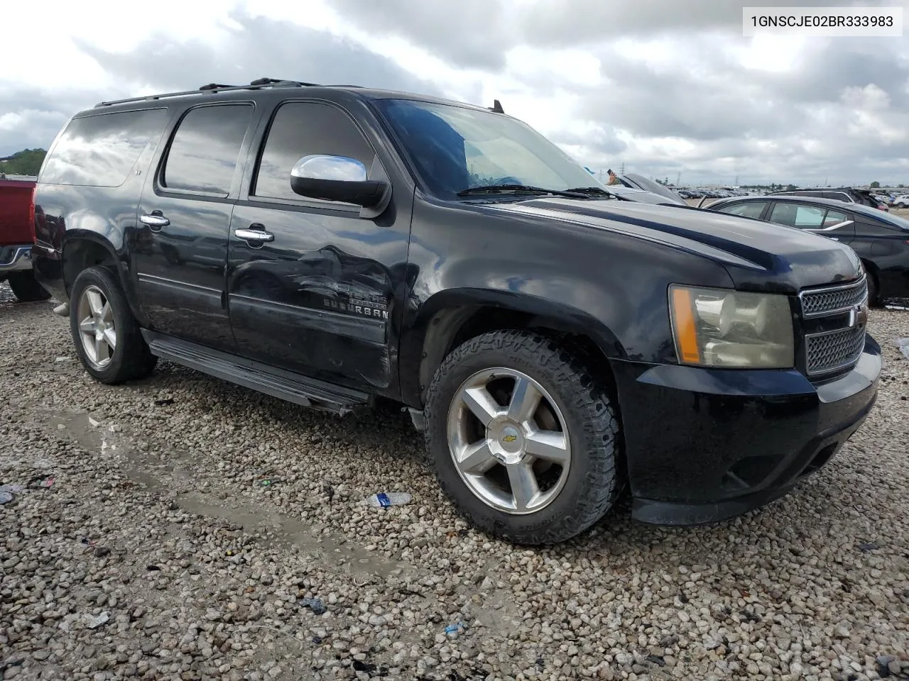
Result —
<instances>
[{"instance_id":1,"label":"glossy black hood of the large Suburban SUV","mask_svg":"<svg viewBox=\"0 0 909 681\"><path fill-rule=\"evenodd\" d=\"M853 250L792 227L685 206L546 198L484 206L549 217L694 252L719 262L743 291L793 293L861 276Z\"/></svg>"}]
</instances>

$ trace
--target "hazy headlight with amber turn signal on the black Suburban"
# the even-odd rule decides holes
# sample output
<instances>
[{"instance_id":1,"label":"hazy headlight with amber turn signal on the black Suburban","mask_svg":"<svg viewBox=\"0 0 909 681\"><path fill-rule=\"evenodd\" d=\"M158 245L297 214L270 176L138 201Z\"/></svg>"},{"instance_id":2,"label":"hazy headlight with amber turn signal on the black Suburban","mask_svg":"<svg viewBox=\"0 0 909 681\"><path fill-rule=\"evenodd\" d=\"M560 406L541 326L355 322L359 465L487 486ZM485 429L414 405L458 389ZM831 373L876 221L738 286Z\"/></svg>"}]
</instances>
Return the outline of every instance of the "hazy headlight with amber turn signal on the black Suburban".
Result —
<instances>
[{"instance_id":1,"label":"hazy headlight with amber turn signal on the black Suburban","mask_svg":"<svg viewBox=\"0 0 909 681\"><path fill-rule=\"evenodd\" d=\"M784 295L672 285L669 311L682 364L739 369L793 366L793 321Z\"/></svg>"}]
</instances>

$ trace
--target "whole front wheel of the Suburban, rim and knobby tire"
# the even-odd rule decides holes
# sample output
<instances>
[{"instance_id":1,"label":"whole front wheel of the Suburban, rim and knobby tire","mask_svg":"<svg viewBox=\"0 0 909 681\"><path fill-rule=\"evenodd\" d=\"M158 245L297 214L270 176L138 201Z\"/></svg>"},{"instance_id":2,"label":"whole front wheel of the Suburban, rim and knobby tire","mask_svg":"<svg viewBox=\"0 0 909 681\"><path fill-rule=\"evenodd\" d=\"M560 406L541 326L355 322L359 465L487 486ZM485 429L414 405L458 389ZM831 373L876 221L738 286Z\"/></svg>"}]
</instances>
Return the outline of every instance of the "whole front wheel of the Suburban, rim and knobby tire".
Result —
<instances>
[{"instance_id":1,"label":"whole front wheel of the Suburban, rim and knobby tire","mask_svg":"<svg viewBox=\"0 0 909 681\"><path fill-rule=\"evenodd\" d=\"M475 526L552 544L614 504L619 424L606 390L556 341L494 331L454 350L426 396L436 478Z\"/></svg>"}]
</instances>

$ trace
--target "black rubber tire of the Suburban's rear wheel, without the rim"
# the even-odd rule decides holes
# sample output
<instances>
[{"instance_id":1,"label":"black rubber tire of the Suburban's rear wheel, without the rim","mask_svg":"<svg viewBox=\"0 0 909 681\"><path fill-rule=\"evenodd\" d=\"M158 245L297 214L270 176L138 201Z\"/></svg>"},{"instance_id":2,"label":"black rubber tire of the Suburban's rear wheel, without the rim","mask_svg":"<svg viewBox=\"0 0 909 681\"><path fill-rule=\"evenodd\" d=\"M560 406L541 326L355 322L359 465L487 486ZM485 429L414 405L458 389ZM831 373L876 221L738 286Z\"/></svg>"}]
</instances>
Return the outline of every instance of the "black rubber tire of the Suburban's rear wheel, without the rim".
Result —
<instances>
[{"instance_id":1,"label":"black rubber tire of the Suburban's rear wheel, without the rim","mask_svg":"<svg viewBox=\"0 0 909 681\"><path fill-rule=\"evenodd\" d=\"M117 335L111 361L100 370L92 366L85 355L78 320L79 298L85 288L93 284L104 292L105 298L110 303ZM148 344L139 330L139 324L135 321L133 311L130 310L129 303L126 301L120 281L115 272L108 268L90 267L81 271L75 278L73 290L70 293L69 325L73 334L76 354L82 361L85 370L95 380L113 385L127 380L144 379L155 370L158 358L148 349Z\"/></svg>"}]
</instances>

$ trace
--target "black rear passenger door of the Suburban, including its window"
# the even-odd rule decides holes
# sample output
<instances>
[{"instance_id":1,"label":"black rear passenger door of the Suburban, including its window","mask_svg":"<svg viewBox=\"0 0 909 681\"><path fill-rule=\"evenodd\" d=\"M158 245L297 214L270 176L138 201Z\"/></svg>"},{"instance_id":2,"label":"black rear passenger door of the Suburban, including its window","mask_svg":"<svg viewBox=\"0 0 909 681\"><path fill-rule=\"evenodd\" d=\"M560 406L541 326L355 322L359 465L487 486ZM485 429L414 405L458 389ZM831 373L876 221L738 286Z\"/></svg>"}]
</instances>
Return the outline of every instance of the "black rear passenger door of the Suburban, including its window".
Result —
<instances>
[{"instance_id":1,"label":"black rear passenger door of the Suburban, including its window","mask_svg":"<svg viewBox=\"0 0 909 681\"><path fill-rule=\"evenodd\" d=\"M253 114L251 104L190 109L145 183L133 271L155 331L235 347L225 301L227 240Z\"/></svg>"}]
</instances>

